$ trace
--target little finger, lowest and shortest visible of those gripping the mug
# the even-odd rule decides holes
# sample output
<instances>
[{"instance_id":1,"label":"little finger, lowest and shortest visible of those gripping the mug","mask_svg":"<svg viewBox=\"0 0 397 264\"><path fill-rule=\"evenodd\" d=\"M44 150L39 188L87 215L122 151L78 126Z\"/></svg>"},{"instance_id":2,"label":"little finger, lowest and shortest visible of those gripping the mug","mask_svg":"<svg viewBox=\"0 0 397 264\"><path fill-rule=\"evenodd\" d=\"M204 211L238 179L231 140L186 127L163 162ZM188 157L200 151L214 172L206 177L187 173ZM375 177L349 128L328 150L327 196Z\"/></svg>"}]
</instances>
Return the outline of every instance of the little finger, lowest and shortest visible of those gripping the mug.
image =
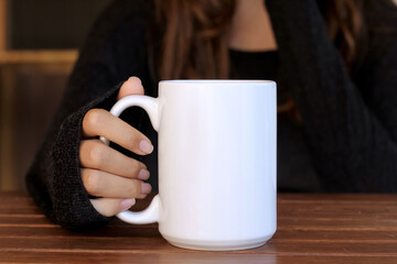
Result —
<instances>
[{"instance_id":1,"label":"little finger, lowest and shortest visible of those gripping the mug","mask_svg":"<svg viewBox=\"0 0 397 264\"><path fill-rule=\"evenodd\" d=\"M99 198L90 199L95 210L105 217L112 217L128 210L136 204L136 199Z\"/></svg>"}]
</instances>

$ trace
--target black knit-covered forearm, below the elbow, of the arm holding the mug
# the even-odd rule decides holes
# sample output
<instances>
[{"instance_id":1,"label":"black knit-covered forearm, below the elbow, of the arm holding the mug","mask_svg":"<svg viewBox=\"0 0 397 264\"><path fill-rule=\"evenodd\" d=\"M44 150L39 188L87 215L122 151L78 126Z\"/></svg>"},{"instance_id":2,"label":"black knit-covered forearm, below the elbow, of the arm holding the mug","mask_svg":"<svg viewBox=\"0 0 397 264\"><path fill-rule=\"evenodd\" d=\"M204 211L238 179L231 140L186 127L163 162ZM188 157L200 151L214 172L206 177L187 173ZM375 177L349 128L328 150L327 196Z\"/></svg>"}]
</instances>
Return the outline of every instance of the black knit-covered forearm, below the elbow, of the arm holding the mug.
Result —
<instances>
[{"instance_id":1,"label":"black knit-covered forearm, below the elbow, of the arm holding the mug","mask_svg":"<svg viewBox=\"0 0 397 264\"><path fill-rule=\"evenodd\" d=\"M82 121L93 108L116 101L118 87L79 108L54 128L26 175L26 187L36 204L67 229L92 229L108 222L90 205L81 179L78 150ZM57 123L55 121L55 123Z\"/></svg>"}]
</instances>

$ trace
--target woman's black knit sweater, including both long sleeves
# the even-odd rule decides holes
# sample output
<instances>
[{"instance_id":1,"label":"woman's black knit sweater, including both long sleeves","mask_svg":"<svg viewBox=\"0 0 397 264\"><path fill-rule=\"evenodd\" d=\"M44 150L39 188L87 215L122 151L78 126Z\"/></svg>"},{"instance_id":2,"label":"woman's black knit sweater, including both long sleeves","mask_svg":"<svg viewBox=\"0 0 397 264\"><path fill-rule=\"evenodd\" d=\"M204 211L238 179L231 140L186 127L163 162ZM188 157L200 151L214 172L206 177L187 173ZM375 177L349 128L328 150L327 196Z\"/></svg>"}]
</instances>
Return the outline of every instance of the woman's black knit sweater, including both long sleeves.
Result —
<instances>
[{"instance_id":1,"label":"woman's black knit sweater, including both long sleeves","mask_svg":"<svg viewBox=\"0 0 397 264\"><path fill-rule=\"evenodd\" d=\"M396 193L396 8L386 0L364 2L367 48L360 67L348 75L326 36L315 0L266 0L278 44L277 80L293 95L313 166L326 190ZM65 228L95 228L109 220L93 208L81 179L82 120L92 108L109 109L129 76L141 78L147 95L158 96L148 65L150 12L151 1L119 0L97 21L26 175L35 202ZM124 119L157 145L142 110L132 108ZM155 151L135 157L157 168ZM151 183L157 188L155 177Z\"/></svg>"}]
</instances>

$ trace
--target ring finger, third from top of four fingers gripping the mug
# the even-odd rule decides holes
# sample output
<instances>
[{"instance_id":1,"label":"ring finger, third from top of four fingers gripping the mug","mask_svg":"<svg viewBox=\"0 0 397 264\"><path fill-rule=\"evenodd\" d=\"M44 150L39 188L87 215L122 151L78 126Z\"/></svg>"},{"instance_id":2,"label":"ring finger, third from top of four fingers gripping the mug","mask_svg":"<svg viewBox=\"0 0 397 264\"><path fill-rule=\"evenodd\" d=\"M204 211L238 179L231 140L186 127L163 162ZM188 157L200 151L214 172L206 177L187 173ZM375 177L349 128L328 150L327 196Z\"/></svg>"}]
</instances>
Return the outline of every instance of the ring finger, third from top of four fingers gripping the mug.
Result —
<instances>
[{"instance_id":1,"label":"ring finger, third from top of four fingers gripping the mug","mask_svg":"<svg viewBox=\"0 0 397 264\"><path fill-rule=\"evenodd\" d=\"M82 179L92 196L107 198L141 198L150 194L150 184L92 168L82 168Z\"/></svg>"}]
</instances>

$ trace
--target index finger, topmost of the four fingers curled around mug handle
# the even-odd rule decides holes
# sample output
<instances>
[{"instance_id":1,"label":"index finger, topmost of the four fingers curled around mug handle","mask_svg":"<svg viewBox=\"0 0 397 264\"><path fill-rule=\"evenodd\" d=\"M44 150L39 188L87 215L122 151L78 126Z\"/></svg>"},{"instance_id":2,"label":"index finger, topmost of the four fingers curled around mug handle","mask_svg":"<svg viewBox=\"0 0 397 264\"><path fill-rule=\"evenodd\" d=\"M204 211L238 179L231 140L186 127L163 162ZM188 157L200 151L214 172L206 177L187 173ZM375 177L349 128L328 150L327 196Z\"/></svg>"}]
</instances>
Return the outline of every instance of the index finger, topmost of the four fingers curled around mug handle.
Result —
<instances>
[{"instance_id":1,"label":"index finger, topmost of the four fingers curled around mug handle","mask_svg":"<svg viewBox=\"0 0 397 264\"><path fill-rule=\"evenodd\" d=\"M153 151L152 143L140 131L104 109L90 109L83 119L83 138L98 135L139 155Z\"/></svg>"}]
</instances>

